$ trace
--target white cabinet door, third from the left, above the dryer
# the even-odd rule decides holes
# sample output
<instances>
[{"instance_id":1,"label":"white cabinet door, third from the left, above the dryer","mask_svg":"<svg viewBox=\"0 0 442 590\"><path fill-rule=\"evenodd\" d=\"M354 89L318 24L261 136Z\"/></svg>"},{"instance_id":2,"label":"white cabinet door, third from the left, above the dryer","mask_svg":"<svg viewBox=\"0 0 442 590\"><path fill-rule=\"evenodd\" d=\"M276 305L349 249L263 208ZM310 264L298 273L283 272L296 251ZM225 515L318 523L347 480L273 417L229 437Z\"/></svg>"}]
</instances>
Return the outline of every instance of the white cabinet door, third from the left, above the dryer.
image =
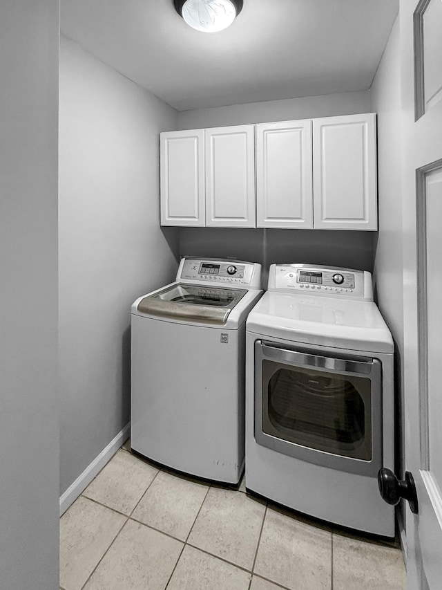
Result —
<instances>
[{"instance_id":1,"label":"white cabinet door, third from the left, above the dryer","mask_svg":"<svg viewBox=\"0 0 442 590\"><path fill-rule=\"evenodd\" d=\"M313 228L311 120L256 125L256 226Z\"/></svg>"}]
</instances>

